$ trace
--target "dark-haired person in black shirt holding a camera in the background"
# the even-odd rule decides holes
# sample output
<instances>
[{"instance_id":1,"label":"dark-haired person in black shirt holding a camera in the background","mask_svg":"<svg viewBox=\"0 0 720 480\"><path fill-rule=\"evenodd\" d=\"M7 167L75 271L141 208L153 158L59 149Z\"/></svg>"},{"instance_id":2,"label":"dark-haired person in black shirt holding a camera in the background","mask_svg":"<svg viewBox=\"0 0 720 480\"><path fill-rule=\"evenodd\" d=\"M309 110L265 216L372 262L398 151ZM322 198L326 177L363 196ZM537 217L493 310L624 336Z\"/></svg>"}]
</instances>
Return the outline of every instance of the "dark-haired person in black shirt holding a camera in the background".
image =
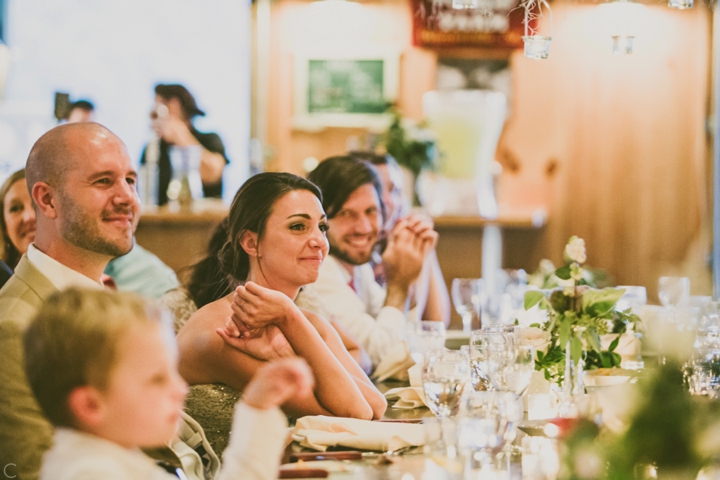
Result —
<instances>
[{"instance_id":1,"label":"dark-haired person in black shirt holding a camera in the background","mask_svg":"<svg viewBox=\"0 0 720 480\"><path fill-rule=\"evenodd\" d=\"M158 205L168 202L167 190L173 176L170 147L200 147L200 179L205 197L222 198L222 173L230 161L225 146L216 133L202 133L193 126L193 118L203 116L195 98L182 85L155 86L155 106L150 112L152 128L159 144L151 142L143 150L141 164L149 155L157 156Z\"/></svg>"}]
</instances>

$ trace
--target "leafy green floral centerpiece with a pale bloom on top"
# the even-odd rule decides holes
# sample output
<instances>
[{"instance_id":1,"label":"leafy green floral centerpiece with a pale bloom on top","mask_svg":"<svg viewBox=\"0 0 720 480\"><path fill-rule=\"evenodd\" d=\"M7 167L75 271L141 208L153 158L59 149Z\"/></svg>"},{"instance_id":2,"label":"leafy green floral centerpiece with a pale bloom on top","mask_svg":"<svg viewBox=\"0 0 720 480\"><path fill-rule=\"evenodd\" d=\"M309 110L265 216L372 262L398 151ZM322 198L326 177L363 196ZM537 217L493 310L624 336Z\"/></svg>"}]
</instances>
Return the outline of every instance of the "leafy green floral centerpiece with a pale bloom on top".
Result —
<instances>
[{"instance_id":1,"label":"leafy green floral centerpiece with a pale bloom on top","mask_svg":"<svg viewBox=\"0 0 720 480\"><path fill-rule=\"evenodd\" d=\"M619 367L622 358L615 350L621 335L640 320L629 309L616 310L624 289L588 285L589 275L582 267L587 260L583 239L571 237L564 258L565 263L553 272L557 287L525 294L526 310L537 306L546 312L542 323L530 325L530 333L543 336L546 346L538 349L535 369L559 384L569 364L581 369Z\"/></svg>"}]
</instances>

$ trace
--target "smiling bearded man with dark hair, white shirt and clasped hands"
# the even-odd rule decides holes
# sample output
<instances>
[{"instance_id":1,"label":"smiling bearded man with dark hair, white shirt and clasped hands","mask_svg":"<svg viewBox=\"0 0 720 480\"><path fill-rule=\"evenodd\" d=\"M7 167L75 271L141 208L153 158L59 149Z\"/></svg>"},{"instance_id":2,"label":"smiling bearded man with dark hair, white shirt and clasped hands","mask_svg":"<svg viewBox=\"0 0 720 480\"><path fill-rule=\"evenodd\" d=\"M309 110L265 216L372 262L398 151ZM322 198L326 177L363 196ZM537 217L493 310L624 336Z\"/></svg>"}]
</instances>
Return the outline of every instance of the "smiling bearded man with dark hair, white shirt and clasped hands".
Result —
<instances>
[{"instance_id":1,"label":"smiling bearded man with dark hair, white shirt and clasped hands","mask_svg":"<svg viewBox=\"0 0 720 480\"><path fill-rule=\"evenodd\" d=\"M373 365L406 338L412 285L435 247L437 233L418 220L400 220L382 255L387 286L375 281L370 260L383 223L382 186L369 163L331 157L308 179L322 191L330 255L312 289Z\"/></svg>"}]
</instances>

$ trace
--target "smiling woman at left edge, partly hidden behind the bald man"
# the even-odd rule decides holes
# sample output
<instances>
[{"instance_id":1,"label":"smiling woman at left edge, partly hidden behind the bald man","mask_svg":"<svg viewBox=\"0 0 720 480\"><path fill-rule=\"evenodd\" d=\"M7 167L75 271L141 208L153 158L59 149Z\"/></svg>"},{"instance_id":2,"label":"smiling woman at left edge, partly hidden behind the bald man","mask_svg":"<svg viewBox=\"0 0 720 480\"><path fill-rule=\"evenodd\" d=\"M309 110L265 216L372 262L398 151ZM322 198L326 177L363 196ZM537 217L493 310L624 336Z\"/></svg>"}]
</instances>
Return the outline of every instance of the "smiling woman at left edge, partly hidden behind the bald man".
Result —
<instances>
[{"instance_id":1,"label":"smiling woman at left edge, partly hidden behind the bald man","mask_svg":"<svg viewBox=\"0 0 720 480\"><path fill-rule=\"evenodd\" d=\"M11 174L0 186L0 287L12 275L35 239L35 211L25 180L25 169Z\"/></svg>"}]
</instances>

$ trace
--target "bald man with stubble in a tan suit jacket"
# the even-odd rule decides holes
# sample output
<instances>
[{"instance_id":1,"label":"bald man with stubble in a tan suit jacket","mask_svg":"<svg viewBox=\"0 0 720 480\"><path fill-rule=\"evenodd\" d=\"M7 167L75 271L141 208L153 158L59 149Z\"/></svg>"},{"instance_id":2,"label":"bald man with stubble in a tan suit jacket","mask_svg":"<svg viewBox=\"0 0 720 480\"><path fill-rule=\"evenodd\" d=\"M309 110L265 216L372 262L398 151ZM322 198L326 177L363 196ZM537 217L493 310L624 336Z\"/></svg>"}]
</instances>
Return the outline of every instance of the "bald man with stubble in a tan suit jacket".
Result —
<instances>
[{"instance_id":1,"label":"bald man with stubble in a tan suit jacket","mask_svg":"<svg viewBox=\"0 0 720 480\"><path fill-rule=\"evenodd\" d=\"M23 332L53 292L102 288L105 266L130 251L139 219L125 145L97 123L50 130L33 146L25 169L37 232L0 290L0 478L20 480L38 478L52 442L25 379Z\"/></svg>"}]
</instances>

